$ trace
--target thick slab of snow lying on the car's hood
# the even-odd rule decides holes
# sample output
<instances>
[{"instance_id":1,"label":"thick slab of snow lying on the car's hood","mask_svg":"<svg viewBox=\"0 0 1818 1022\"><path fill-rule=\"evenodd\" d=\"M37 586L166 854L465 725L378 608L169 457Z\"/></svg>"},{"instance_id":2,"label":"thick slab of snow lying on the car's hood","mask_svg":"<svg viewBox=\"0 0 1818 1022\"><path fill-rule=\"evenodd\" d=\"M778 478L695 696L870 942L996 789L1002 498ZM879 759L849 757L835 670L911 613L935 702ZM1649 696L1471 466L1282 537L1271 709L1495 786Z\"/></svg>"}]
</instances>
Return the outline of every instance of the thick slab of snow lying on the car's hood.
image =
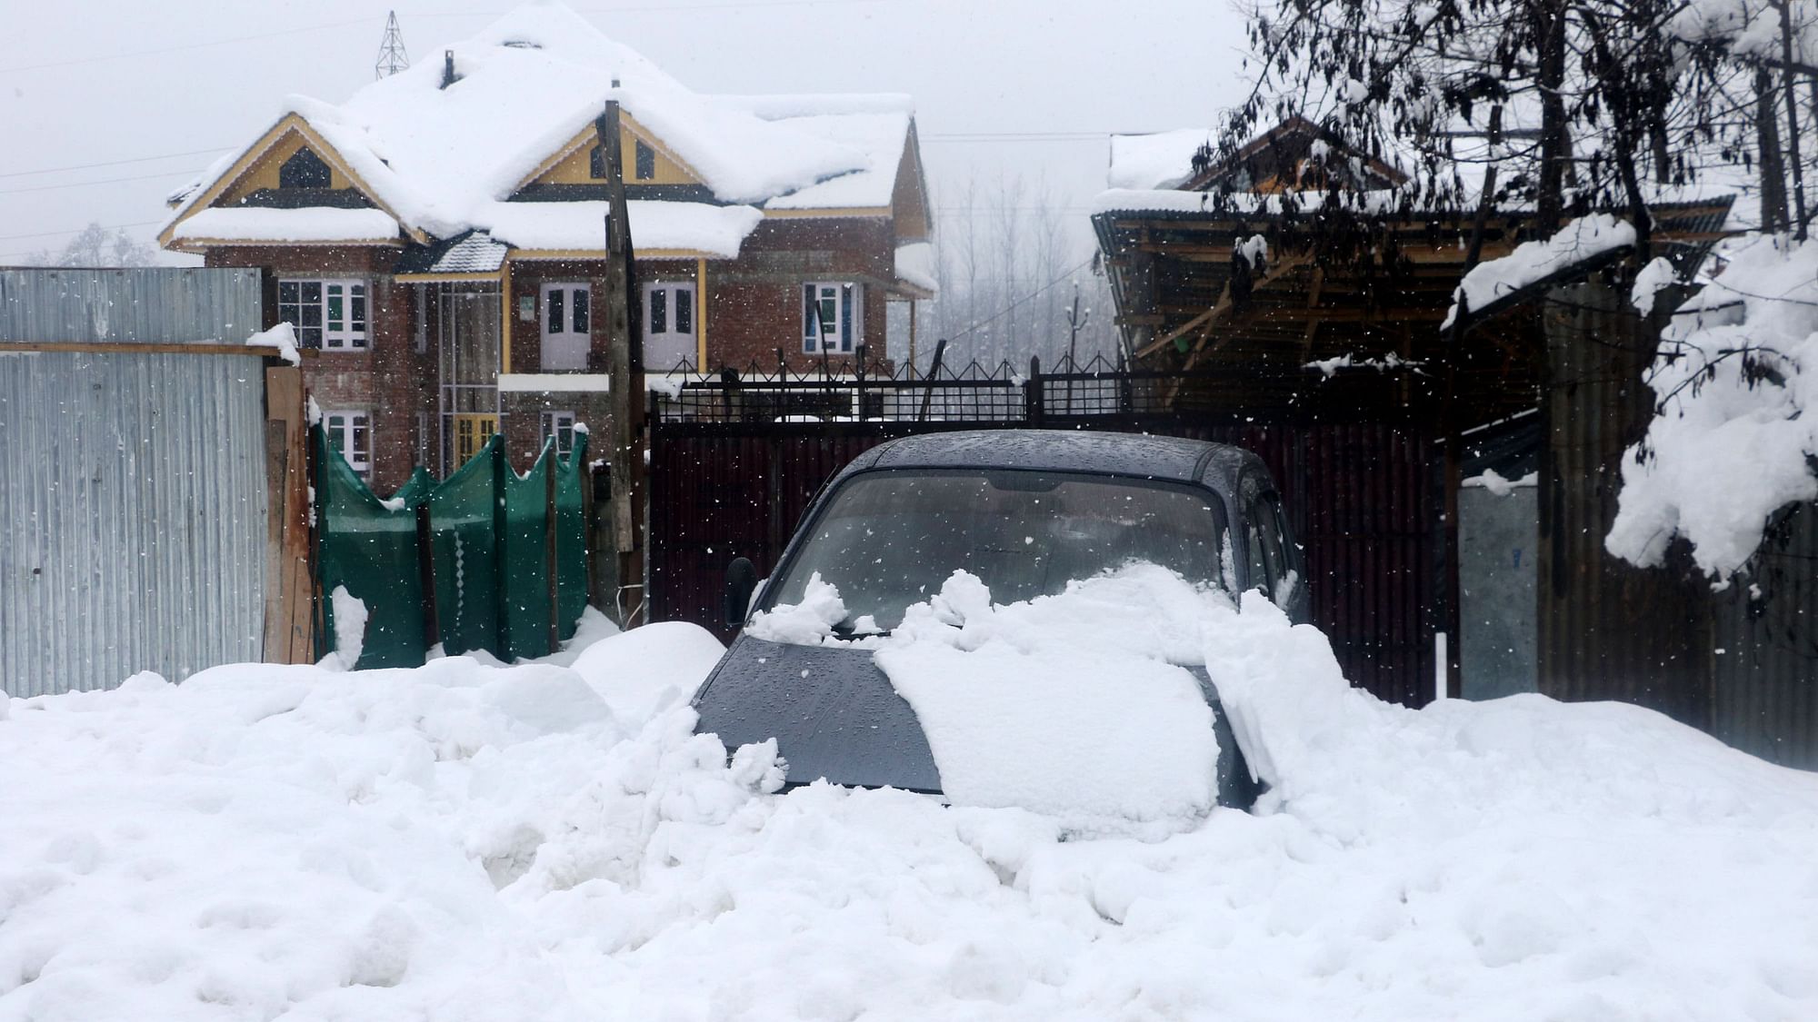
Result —
<instances>
[{"instance_id":1,"label":"thick slab of snow lying on the car's hood","mask_svg":"<svg viewBox=\"0 0 1818 1022\"><path fill-rule=\"evenodd\" d=\"M1154 566L993 606L954 571L909 607L876 664L914 709L942 789L1018 806L1074 831L1185 827L1214 804L1218 742L1200 684L1194 611L1225 596Z\"/></svg>"}]
</instances>

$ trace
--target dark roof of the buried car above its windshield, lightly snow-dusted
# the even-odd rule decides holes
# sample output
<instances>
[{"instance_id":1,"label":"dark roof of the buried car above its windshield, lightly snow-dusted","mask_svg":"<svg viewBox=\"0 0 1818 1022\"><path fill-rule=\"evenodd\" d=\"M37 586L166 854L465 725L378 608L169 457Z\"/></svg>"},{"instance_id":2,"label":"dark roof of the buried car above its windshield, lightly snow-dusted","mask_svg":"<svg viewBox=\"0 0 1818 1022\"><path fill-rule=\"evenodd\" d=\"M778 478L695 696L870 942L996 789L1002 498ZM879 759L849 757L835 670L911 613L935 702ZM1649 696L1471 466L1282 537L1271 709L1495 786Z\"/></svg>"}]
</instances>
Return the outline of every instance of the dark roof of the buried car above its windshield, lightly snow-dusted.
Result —
<instances>
[{"instance_id":1,"label":"dark roof of the buried car above its windshield, lightly snow-dusted","mask_svg":"<svg viewBox=\"0 0 1818 1022\"><path fill-rule=\"evenodd\" d=\"M1254 455L1225 444L1074 429L967 429L878 444L847 466L865 469L1045 469L1176 482L1234 482Z\"/></svg>"}]
</instances>

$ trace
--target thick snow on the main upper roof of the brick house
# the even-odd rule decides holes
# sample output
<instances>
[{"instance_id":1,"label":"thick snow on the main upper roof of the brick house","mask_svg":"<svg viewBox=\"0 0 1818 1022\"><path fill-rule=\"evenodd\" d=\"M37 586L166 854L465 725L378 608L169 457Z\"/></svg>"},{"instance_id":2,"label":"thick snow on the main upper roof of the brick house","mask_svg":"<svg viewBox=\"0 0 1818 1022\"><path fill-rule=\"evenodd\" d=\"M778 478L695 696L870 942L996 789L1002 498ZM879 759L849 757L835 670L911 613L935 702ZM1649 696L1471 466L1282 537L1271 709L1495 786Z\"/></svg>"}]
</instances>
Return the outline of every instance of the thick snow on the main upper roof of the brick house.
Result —
<instances>
[{"instance_id":1,"label":"thick snow on the main upper roof of the brick house","mask_svg":"<svg viewBox=\"0 0 1818 1022\"><path fill-rule=\"evenodd\" d=\"M554 0L527 4L447 49L456 75L447 87L444 60L425 60L340 105L305 96L284 105L378 205L436 238L487 227L494 205L585 131L609 98L731 204L887 204L909 133L905 96L694 93ZM275 140L267 133L262 142ZM247 155L251 147L173 193L173 220Z\"/></svg>"}]
</instances>

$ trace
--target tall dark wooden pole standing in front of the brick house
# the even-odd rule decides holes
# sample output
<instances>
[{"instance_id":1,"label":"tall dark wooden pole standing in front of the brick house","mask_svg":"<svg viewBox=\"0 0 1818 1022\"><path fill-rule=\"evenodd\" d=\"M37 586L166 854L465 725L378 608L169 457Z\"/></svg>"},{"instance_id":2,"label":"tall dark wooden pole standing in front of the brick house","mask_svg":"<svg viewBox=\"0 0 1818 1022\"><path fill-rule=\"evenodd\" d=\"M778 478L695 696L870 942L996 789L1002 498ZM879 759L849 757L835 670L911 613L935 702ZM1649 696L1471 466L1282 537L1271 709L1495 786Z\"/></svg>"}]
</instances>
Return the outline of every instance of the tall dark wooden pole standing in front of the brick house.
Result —
<instances>
[{"instance_id":1,"label":"tall dark wooden pole standing in front of the brick house","mask_svg":"<svg viewBox=\"0 0 1818 1022\"><path fill-rule=\"evenodd\" d=\"M618 82L614 82L616 85ZM607 460L613 471L613 540L618 547L618 591L624 626L647 615L644 580L644 346L631 225L625 205L625 160L618 144L618 100L607 100L594 122L605 162L605 326L607 386L613 429Z\"/></svg>"}]
</instances>

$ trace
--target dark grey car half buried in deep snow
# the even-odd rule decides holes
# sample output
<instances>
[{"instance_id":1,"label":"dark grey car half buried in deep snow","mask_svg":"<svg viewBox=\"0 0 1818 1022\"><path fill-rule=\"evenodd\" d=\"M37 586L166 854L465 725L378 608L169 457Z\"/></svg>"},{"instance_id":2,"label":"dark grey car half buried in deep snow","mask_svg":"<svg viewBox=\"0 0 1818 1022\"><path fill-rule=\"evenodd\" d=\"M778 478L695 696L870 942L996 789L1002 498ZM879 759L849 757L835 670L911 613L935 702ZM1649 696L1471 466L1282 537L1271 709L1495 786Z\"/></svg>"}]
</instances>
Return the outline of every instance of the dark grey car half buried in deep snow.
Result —
<instances>
[{"instance_id":1,"label":"dark grey car half buried in deep snow","mask_svg":"<svg viewBox=\"0 0 1818 1022\"><path fill-rule=\"evenodd\" d=\"M911 604L964 569L996 602L1054 595L1073 580L1153 562L1189 582L1262 589L1291 618L1307 611L1305 566L1274 480L1240 447L1124 433L967 431L891 440L854 458L814 498L765 582L738 558L727 624L798 606L831 582L845 615L831 635L742 631L694 693L696 731L727 747L776 738L787 784L940 793L929 740L874 664ZM1256 786L1218 693L1218 800Z\"/></svg>"}]
</instances>

